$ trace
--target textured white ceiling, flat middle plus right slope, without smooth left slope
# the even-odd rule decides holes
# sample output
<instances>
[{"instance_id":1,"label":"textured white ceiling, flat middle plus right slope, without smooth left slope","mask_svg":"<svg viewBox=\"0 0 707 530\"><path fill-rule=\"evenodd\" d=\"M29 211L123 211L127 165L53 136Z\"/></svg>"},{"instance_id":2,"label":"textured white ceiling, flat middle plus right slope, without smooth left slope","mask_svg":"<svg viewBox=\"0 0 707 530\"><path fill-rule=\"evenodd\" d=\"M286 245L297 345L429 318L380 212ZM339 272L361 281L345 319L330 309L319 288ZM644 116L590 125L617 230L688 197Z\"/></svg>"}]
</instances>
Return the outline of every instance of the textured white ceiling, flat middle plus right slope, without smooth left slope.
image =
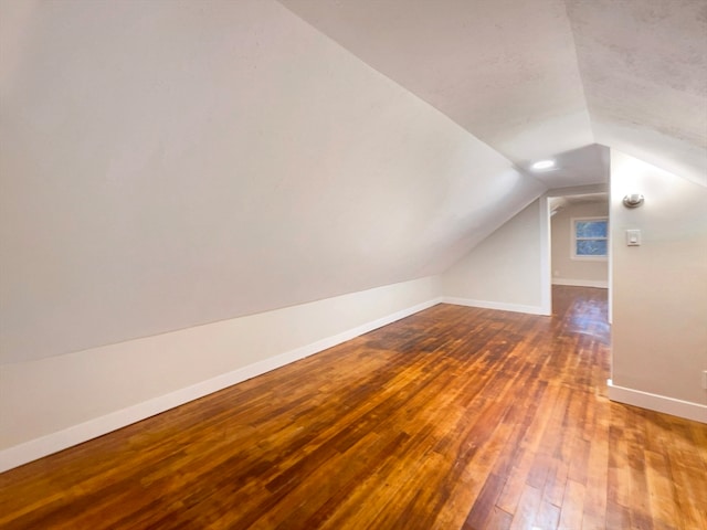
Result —
<instances>
[{"instance_id":1,"label":"textured white ceiling, flat middle plus right slope, without smooth left slope","mask_svg":"<svg viewBox=\"0 0 707 530\"><path fill-rule=\"evenodd\" d=\"M604 182L594 144L707 186L704 0L279 1L549 188Z\"/></svg>"}]
</instances>

